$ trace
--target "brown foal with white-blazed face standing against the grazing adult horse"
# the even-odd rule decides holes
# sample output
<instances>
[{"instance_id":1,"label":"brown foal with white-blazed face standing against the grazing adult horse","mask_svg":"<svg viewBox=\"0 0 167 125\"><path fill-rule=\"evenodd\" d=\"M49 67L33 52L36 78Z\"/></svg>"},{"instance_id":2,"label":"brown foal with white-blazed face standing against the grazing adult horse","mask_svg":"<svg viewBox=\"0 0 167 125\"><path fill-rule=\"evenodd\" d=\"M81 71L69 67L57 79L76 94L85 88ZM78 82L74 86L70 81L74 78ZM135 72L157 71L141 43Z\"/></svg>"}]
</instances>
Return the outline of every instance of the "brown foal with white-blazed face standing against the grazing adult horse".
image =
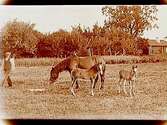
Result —
<instances>
[{"instance_id":1,"label":"brown foal with white-blazed face standing against the grazing adult horse","mask_svg":"<svg viewBox=\"0 0 167 125\"><path fill-rule=\"evenodd\" d=\"M70 89L73 96L76 96L73 87L74 87L74 84L76 84L78 79L90 79L90 81L91 81L91 95L94 96L93 89L95 88L95 84L98 80L97 78L98 78L99 73L103 74L102 64L95 64L94 66L92 66L88 70L79 69L79 68L73 69L71 71L72 85L71 85L71 89Z\"/></svg>"}]
</instances>

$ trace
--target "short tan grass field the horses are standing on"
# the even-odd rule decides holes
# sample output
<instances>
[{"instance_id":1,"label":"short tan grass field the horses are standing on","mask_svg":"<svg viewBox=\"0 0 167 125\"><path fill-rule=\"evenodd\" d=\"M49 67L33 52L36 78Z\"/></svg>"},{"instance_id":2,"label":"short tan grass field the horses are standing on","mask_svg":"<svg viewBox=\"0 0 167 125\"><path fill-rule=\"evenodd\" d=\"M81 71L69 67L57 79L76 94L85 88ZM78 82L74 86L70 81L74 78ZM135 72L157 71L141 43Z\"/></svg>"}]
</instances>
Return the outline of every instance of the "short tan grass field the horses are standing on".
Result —
<instances>
[{"instance_id":1,"label":"short tan grass field the horses are standing on","mask_svg":"<svg viewBox=\"0 0 167 125\"><path fill-rule=\"evenodd\" d=\"M136 96L118 94L118 71L130 64L107 64L105 89L90 95L89 81L80 81L77 97L69 91L67 72L49 85L51 66L16 67L12 88L1 87L2 118L167 119L167 63L138 65ZM32 89L41 89L33 91Z\"/></svg>"}]
</instances>

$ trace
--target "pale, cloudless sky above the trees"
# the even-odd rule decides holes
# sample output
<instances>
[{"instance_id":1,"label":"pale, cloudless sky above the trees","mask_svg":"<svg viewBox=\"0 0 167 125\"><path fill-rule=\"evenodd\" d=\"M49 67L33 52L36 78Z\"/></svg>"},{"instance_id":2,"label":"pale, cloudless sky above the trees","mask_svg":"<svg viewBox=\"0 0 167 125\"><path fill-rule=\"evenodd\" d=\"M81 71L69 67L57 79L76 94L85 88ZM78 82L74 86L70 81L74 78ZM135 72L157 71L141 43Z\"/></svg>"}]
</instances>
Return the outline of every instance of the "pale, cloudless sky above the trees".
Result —
<instances>
[{"instance_id":1,"label":"pale, cloudless sky above the trees","mask_svg":"<svg viewBox=\"0 0 167 125\"><path fill-rule=\"evenodd\" d=\"M35 23L35 29L48 33L59 29L70 31L71 26L92 27L95 23L104 24L105 16L101 8L105 5L59 5L59 6L4 6L0 5L0 28L6 22L17 19ZM167 36L167 5L159 5L157 24L159 29L144 32L145 38L163 39Z\"/></svg>"}]
</instances>

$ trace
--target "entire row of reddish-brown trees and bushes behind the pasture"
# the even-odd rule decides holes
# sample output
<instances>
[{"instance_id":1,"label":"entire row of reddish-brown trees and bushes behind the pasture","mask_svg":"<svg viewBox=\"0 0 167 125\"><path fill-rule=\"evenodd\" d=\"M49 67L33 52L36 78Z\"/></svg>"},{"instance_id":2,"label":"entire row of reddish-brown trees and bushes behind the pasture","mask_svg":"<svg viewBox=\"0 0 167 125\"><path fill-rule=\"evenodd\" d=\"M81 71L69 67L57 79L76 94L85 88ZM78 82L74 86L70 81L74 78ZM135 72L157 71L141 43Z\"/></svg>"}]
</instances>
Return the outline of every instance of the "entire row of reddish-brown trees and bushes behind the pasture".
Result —
<instances>
[{"instance_id":1,"label":"entire row of reddish-brown trees and bushes behind the pasture","mask_svg":"<svg viewBox=\"0 0 167 125\"><path fill-rule=\"evenodd\" d=\"M3 51L12 51L17 57L146 55L148 40L142 38L145 30L157 28L155 6L105 6L104 25L93 28L72 26L71 31L59 29L41 33L35 24L9 21L1 31Z\"/></svg>"}]
</instances>

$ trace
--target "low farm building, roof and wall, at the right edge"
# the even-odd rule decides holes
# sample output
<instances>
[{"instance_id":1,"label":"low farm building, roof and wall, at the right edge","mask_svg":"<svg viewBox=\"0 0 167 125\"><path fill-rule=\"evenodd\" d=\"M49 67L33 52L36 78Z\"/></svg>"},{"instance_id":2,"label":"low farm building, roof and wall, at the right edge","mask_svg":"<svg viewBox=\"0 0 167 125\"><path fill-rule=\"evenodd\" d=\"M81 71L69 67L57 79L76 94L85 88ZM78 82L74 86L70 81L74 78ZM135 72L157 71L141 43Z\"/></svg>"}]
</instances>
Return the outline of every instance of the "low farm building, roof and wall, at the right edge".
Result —
<instances>
[{"instance_id":1,"label":"low farm building, roof and wall, at the right edge","mask_svg":"<svg viewBox=\"0 0 167 125\"><path fill-rule=\"evenodd\" d=\"M167 55L167 41L148 40L149 55Z\"/></svg>"}]
</instances>

